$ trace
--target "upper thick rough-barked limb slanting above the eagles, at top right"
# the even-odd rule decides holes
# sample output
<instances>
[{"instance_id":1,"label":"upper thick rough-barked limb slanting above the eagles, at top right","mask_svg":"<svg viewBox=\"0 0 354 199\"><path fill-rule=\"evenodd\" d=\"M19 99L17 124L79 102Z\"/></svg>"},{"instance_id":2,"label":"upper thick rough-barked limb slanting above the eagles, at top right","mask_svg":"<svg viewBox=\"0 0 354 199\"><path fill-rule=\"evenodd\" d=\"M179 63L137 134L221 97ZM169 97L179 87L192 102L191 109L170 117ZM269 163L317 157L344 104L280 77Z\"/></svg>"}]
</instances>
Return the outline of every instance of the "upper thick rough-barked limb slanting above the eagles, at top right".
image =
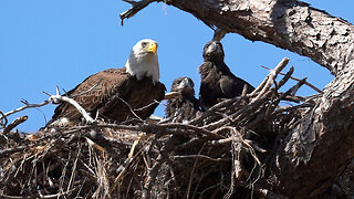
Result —
<instances>
[{"instance_id":1,"label":"upper thick rough-barked limb slanting above the eagles, at top right","mask_svg":"<svg viewBox=\"0 0 354 199\"><path fill-rule=\"evenodd\" d=\"M121 14L122 21L152 2L143 0ZM354 28L341 18L296 0L165 0L226 32L263 41L308 56L333 74L353 65Z\"/></svg>"}]
</instances>

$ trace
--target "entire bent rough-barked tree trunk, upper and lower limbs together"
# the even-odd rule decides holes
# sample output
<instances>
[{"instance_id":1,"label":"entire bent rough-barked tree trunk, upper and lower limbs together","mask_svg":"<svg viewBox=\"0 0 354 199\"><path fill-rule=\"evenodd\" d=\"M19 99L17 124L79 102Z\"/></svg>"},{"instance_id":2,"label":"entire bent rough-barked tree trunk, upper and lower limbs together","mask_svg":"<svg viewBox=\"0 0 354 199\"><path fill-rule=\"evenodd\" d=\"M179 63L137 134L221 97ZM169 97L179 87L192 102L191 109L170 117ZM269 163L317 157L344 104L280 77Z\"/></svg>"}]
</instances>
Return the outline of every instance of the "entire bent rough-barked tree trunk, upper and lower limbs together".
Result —
<instances>
[{"instance_id":1,"label":"entire bent rough-barked tree trunk, upper and lower limbs together","mask_svg":"<svg viewBox=\"0 0 354 199\"><path fill-rule=\"evenodd\" d=\"M354 27L295 0L165 2L208 25L308 56L335 75L268 165L280 195L308 198L329 188L354 157Z\"/></svg>"}]
</instances>

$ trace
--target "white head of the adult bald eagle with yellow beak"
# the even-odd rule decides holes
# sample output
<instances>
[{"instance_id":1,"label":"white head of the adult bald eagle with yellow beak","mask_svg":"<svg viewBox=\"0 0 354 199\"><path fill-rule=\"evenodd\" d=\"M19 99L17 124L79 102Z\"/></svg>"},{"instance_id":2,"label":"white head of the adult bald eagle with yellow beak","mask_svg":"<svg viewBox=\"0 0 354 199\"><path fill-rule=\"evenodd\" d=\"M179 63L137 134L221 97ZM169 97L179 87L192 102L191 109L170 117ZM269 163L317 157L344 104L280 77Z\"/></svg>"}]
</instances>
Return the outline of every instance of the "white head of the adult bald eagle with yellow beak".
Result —
<instances>
[{"instance_id":1,"label":"white head of the adult bald eagle with yellow beak","mask_svg":"<svg viewBox=\"0 0 354 199\"><path fill-rule=\"evenodd\" d=\"M157 43L154 40L145 39L138 41L126 61L126 72L136 76L137 80L150 76L154 84L159 80L159 66L157 57Z\"/></svg>"}]
</instances>

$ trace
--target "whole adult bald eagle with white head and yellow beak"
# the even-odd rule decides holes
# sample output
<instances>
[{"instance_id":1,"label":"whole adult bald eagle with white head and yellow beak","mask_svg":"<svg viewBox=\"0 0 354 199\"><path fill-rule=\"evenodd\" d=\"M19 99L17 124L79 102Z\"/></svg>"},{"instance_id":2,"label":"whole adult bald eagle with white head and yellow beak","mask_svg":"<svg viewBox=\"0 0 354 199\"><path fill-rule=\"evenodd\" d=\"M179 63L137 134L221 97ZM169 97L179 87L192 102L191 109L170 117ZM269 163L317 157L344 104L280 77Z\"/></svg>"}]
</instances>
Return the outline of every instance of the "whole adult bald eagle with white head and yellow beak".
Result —
<instances>
[{"instance_id":1,"label":"whole adult bald eagle with white head and yellow beak","mask_svg":"<svg viewBox=\"0 0 354 199\"><path fill-rule=\"evenodd\" d=\"M111 122L145 119L165 96L159 81L157 43L150 39L137 42L122 69L108 69L88 76L66 95L75 100L92 117ZM82 115L69 103L61 103L46 125L66 126Z\"/></svg>"}]
</instances>

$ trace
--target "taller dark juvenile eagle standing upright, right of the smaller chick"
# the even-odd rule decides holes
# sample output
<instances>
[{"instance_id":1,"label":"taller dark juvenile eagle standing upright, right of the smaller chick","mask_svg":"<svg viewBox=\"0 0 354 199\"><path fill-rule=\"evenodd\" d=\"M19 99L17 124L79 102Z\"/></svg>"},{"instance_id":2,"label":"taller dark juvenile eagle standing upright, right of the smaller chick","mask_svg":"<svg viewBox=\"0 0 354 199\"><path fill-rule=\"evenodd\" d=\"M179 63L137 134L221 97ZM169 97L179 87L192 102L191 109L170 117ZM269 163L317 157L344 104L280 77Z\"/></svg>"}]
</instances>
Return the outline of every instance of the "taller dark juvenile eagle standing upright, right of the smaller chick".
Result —
<instances>
[{"instance_id":1,"label":"taller dark juvenile eagle standing upright, right of the smaller chick","mask_svg":"<svg viewBox=\"0 0 354 199\"><path fill-rule=\"evenodd\" d=\"M220 42L210 41L204 46L204 63L198 67L201 76L199 101L202 108L208 109L220 98L233 98L254 90L249 83L235 76L223 62L223 49Z\"/></svg>"}]
</instances>

